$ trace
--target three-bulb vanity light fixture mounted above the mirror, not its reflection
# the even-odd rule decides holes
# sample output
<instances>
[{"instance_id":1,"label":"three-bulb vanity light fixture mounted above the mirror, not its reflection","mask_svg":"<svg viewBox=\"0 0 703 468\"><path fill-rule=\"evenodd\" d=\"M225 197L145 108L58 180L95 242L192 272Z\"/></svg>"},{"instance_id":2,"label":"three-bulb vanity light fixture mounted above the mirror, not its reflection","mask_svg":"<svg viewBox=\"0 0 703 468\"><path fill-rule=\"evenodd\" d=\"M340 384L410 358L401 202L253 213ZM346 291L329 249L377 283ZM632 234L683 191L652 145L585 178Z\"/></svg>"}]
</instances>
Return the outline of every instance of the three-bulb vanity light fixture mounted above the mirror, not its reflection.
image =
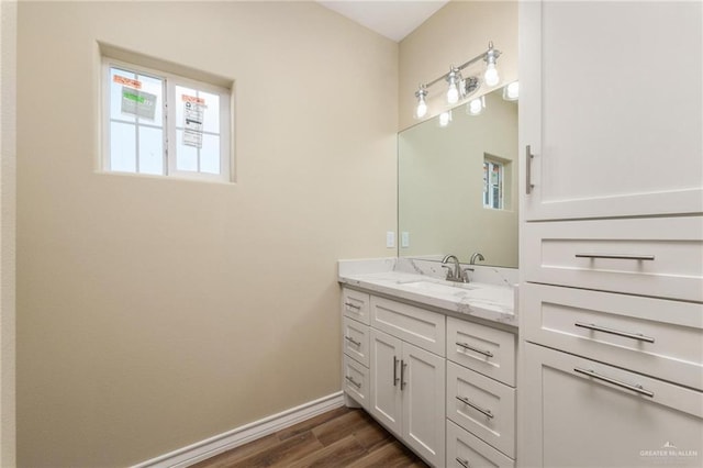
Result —
<instances>
[{"instance_id":1,"label":"three-bulb vanity light fixture mounted above the mirror, not its reflection","mask_svg":"<svg viewBox=\"0 0 703 468\"><path fill-rule=\"evenodd\" d=\"M449 68L449 71L439 78L436 78L429 82L421 83L417 91L415 91L415 98L417 98L417 105L415 107L415 119L422 119L427 114L427 88L439 82L446 81L447 93L446 100L448 104L456 104L460 100L468 98L473 94L479 87L481 86L481 81L476 76L470 76L468 78L461 77L461 70L467 68L469 65L472 65L479 60L483 60L487 64L486 73L483 74L483 82L488 86L495 86L500 82L500 76L498 74L498 69L495 68L495 60L500 57L501 52L493 47L493 42L488 43L488 49L471 58L469 62L455 67L454 65Z\"/></svg>"}]
</instances>

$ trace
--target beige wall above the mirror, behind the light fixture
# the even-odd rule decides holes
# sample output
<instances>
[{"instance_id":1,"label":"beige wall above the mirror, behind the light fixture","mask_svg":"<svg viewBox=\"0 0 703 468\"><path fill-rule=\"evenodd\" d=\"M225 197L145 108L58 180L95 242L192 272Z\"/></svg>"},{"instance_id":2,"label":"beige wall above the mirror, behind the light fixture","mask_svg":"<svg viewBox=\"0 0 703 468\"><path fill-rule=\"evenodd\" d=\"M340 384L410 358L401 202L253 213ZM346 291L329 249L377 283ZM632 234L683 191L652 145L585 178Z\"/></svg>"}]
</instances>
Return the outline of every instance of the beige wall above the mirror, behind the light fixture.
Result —
<instances>
[{"instance_id":1,"label":"beige wall above the mirror, behind the light fixture","mask_svg":"<svg viewBox=\"0 0 703 468\"><path fill-rule=\"evenodd\" d=\"M482 54L493 41L502 52L498 68L502 82L517 79L517 2L453 0L400 43L399 122L406 129L413 120L415 91L421 82L428 82ZM486 63L466 69L465 75L482 74ZM489 92L486 86L476 96ZM427 118L446 109L446 82L432 86Z\"/></svg>"}]
</instances>

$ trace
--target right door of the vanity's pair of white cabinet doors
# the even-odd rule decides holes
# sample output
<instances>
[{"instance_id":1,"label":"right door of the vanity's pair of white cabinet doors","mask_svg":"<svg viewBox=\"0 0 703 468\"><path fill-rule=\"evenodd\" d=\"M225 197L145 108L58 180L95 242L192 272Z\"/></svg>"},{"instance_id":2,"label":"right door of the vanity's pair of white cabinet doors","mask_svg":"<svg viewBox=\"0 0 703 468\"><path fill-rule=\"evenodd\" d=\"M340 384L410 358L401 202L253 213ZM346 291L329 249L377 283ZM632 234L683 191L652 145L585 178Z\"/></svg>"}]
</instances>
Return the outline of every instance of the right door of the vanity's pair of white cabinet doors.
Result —
<instances>
[{"instance_id":1,"label":"right door of the vanity's pair of white cabinet doors","mask_svg":"<svg viewBox=\"0 0 703 468\"><path fill-rule=\"evenodd\" d=\"M445 359L403 343L403 439L432 465L445 465Z\"/></svg>"}]
</instances>

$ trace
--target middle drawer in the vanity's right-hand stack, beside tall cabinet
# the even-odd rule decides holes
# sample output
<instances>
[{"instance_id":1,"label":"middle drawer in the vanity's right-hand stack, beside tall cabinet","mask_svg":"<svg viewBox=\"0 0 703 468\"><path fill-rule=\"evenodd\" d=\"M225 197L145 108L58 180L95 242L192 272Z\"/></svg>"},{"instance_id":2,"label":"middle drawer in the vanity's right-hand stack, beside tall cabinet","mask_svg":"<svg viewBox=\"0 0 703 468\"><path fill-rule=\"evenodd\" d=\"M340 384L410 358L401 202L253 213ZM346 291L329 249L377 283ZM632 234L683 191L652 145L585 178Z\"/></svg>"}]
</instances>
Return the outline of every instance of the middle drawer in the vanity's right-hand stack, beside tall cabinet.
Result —
<instances>
[{"instance_id":1,"label":"middle drawer in the vanity's right-hand stack, beside tall cabinet","mask_svg":"<svg viewBox=\"0 0 703 468\"><path fill-rule=\"evenodd\" d=\"M515 389L447 361L447 417L515 457Z\"/></svg>"}]
</instances>

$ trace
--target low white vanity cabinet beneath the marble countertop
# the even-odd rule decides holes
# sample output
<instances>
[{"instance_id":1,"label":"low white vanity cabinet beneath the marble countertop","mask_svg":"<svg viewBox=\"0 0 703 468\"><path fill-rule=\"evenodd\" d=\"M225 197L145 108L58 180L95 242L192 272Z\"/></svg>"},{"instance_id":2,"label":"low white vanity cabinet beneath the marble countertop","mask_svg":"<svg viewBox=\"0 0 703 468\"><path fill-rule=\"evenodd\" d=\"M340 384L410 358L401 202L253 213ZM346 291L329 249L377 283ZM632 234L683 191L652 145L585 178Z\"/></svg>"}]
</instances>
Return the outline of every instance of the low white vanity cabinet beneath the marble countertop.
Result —
<instances>
[{"instance_id":1,"label":"low white vanity cabinet beneath the marble countertop","mask_svg":"<svg viewBox=\"0 0 703 468\"><path fill-rule=\"evenodd\" d=\"M515 466L515 333L373 292L342 296L347 404L432 466Z\"/></svg>"}]
</instances>

